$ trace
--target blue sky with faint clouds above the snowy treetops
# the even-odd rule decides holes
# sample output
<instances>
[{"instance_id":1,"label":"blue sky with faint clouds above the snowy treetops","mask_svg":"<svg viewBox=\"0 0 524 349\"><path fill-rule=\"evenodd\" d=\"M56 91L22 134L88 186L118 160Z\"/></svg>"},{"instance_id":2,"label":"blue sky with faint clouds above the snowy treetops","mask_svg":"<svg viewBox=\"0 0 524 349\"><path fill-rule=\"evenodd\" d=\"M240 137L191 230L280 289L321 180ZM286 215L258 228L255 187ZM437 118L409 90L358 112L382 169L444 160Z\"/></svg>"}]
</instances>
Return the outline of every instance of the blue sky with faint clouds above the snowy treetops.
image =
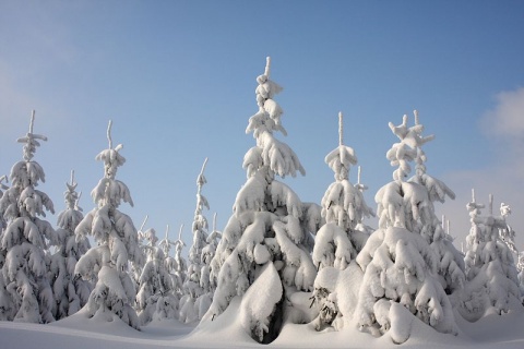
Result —
<instances>
[{"instance_id":1,"label":"blue sky with faint clouds above the snowy treetops","mask_svg":"<svg viewBox=\"0 0 524 349\"><path fill-rule=\"evenodd\" d=\"M471 189L512 206L509 222L524 250L524 3L522 1L12 1L0 2L0 173L22 159L15 140L35 132L46 171L39 189L63 209L74 169L84 212L103 176L95 156L122 143L118 178L140 226L184 238L195 179L223 229L245 183L245 130L257 111L255 77L272 57L275 97L306 177L286 179L305 202L320 203L333 173L337 113L368 184L368 204L392 178L385 152L397 139L388 122L426 134L428 172L457 194L438 204L452 234L467 234ZM352 173L355 182L356 170ZM56 217L48 216L56 221ZM372 222L370 222L373 225Z\"/></svg>"}]
</instances>

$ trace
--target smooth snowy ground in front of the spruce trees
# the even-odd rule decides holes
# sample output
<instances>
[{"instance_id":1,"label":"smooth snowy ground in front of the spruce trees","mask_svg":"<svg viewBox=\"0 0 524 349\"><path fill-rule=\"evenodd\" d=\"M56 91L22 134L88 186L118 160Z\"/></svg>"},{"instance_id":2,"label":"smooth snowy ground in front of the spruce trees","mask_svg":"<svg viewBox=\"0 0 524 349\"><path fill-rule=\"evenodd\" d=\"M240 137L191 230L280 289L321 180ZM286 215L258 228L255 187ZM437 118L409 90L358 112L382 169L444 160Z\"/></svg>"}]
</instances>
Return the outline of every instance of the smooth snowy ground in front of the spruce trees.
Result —
<instances>
[{"instance_id":1,"label":"smooth snowy ground in front of the spruce trees","mask_svg":"<svg viewBox=\"0 0 524 349\"><path fill-rule=\"evenodd\" d=\"M233 303L231 303L233 304ZM236 306L221 315L223 321L196 327L176 321L153 323L134 330L116 318L87 320L80 312L49 324L0 322L0 348L24 349L134 349L134 348L263 348L240 327ZM224 325L226 324L226 325ZM271 348L524 348L524 311L490 315L471 324L460 322L458 336L442 335L420 322L405 344L392 344L388 334L373 338L356 329L317 333L310 325L289 325Z\"/></svg>"}]
</instances>

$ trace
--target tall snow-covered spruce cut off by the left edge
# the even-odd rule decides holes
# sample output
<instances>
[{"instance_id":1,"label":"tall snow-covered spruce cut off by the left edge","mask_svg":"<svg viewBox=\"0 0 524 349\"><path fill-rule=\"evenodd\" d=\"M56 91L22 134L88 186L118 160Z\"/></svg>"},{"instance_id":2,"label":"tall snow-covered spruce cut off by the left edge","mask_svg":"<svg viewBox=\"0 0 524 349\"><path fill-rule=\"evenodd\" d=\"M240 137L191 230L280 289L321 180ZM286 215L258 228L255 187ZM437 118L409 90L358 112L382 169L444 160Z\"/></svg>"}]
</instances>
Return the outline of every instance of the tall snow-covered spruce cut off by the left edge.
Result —
<instances>
[{"instance_id":1,"label":"tall snow-covered spruce cut off by the left edge","mask_svg":"<svg viewBox=\"0 0 524 349\"><path fill-rule=\"evenodd\" d=\"M12 186L0 198L0 216L7 220L0 241L0 254L5 257L0 318L49 323L55 318L46 251L49 244L56 244L56 232L38 216L45 217L45 210L53 214L55 209L49 196L36 189L39 181L45 181L45 173L33 157L40 145L38 141L47 141L47 137L33 133L34 121L35 111L29 131L17 140L24 143L24 159L12 167Z\"/></svg>"}]
</instances>

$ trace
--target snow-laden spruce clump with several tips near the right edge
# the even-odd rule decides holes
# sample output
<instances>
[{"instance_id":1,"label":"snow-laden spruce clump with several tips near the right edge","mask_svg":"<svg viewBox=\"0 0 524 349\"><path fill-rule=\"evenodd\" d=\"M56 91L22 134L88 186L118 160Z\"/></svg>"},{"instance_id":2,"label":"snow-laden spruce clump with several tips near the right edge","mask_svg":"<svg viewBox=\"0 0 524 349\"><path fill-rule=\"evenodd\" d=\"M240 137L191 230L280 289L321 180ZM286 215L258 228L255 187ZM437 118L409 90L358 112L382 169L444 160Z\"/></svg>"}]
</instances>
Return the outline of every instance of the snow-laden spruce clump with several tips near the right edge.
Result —
<instances>
[{"instance_id":1,"label":"snow-laden spruce clump with several tips near the right edge","mask_svg":"<svg viewBox=\"0 0 524 349\"><path fill-rule=\"evenodd\" d=\"M501 216L493 216L492 195L489 213L483 216L485 206L475 201L467 204L472 228L466 237L465 256L467 282L461 313L469 321L476 321L487 314L503 314L515 303L521 303L519 277L513 255L500 234L508 229L507 205L501 206ZM513 302L514 300L517 302ZM520 305L517 305L520 306Z\"/></svg>"}]
</instances>

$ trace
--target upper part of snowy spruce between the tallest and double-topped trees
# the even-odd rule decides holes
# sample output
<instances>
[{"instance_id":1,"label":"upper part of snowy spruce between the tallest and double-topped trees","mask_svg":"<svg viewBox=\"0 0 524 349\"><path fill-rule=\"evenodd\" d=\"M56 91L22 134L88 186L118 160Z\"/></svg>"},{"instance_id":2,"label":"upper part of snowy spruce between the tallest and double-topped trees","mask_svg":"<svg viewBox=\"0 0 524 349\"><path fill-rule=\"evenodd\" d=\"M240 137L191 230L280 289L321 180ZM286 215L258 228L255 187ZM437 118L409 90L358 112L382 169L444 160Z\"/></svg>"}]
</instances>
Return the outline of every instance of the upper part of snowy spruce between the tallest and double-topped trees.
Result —
<instances>
[{"instance_id":1,"label":"upper part of snowy spruce between the tallest and double-topped trees","mask_svg":"<svg viewBox=\"0 0 524 349\"><path fill-rule=\"evenodd\" d=\"M333 182L322 197L322 217L325 225L314 239L313 262L318 269L334 266L340 269L355 260L362 249L368 233L362 227L365 217L374 216L364 198L366 185L349 181L350 167L357 164L355 151L343 143L343 117L338 113L338 146L325 157L335 173Z\"/></svg>"}]
</instances>

